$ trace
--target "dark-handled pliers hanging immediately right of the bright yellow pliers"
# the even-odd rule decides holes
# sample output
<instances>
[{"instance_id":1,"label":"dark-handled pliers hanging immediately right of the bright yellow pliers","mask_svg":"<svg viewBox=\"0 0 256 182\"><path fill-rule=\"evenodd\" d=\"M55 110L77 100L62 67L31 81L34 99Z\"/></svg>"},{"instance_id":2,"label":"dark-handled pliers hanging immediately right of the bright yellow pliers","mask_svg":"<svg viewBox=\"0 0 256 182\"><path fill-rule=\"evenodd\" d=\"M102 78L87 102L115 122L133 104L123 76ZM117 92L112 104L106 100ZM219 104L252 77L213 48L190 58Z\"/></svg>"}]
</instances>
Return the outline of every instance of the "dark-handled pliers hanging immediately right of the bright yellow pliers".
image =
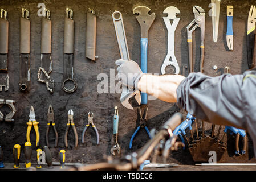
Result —
<instances>
[{"instance_id":1,"label":"dark-handled pliers hanging immediately right of the bright yellow pliers","mask_svg":"<svg viewBox=\"0 0 256 182\"><path fill-rule=\"evenodd\" d=\"M51 105L49 105L47 120L48 120L48 122L47 122L47 127L46 127L46 145L48 147L50 147L48 135L49 135L50 126L52 125L52 127L54 129L54 133L55 133L55 144L54 144L54 146L57 147L57 145L58 145L58 132L57 132L56 127L55 127L54 110L52 109Z\"/></svg>"}]
</instances>

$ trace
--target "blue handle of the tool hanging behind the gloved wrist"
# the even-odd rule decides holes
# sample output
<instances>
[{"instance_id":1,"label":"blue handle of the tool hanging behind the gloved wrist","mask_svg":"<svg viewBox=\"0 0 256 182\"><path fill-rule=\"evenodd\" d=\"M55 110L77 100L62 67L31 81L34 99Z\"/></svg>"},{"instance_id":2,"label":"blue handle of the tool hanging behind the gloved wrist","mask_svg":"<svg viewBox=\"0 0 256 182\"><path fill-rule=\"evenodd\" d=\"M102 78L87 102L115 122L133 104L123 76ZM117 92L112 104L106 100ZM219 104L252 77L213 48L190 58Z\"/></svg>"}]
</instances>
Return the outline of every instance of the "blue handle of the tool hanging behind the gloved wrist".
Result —
<instances>
[{"instance_id":1,"label":"blue handle of the tool hanging behind the gloved wrist","mask_svg":"<svg viewBox=\"0 0 256 182\"><path fill-rule=\"evenodd\" d=\"M140 39L141 71L148 73L148 38ZM148 104L148 94L141 92L141 104Z\"/></svg>"}]
</instances>

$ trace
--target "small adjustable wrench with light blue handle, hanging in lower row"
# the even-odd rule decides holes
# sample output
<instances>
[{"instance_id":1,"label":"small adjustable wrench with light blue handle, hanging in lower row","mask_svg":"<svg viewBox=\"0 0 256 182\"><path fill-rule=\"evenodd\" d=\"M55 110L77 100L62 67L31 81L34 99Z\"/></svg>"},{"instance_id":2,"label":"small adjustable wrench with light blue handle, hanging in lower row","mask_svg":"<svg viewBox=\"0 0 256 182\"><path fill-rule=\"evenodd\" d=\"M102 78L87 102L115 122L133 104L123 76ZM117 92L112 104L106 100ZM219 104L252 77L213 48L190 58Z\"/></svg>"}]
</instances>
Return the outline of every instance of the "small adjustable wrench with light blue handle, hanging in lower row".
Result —
<instances>
[{"instance_id":1,"label":"small adjustable wrench with light blue handle, hanging in lower row","mask_svg":"<svg viewBox=\"0 0 256 182\"><path fill-rule=\"evenodd\" d=\"M120 154L121 152L121 146L118 144L118 121L119 121L119 115L118 115L118 110L117 110L117 106L115 106L115 114L113 117L113 123L114 123L114 127L113 127L113 137L114 137L114 144L113 147L111 148L110 152L112 155L117 155Z\"/></svg>"}]
</instances>

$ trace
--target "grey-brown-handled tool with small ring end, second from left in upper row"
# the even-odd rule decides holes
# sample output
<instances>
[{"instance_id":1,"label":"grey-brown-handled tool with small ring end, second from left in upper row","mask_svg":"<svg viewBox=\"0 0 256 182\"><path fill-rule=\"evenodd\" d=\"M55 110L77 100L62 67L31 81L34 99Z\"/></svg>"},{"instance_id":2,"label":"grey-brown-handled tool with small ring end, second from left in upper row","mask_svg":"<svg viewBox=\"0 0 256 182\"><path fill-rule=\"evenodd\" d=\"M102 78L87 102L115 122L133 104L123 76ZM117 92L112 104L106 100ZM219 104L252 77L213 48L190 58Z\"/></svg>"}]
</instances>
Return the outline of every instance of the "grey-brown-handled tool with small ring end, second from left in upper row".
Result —
<instances>
[{"instance_id":1,"label":"grey-brown-handled tool with small ring end, second from left in upper row","mask_svg":"<svg viewBox=\"0 0 256 182\"><path fill-rule=\"evenodd\" d=\"M30 20L29 11L22 8L20 19L21 38L19 42L19 89L21 91L30 90Z\"/></svg>"}]
</instances>

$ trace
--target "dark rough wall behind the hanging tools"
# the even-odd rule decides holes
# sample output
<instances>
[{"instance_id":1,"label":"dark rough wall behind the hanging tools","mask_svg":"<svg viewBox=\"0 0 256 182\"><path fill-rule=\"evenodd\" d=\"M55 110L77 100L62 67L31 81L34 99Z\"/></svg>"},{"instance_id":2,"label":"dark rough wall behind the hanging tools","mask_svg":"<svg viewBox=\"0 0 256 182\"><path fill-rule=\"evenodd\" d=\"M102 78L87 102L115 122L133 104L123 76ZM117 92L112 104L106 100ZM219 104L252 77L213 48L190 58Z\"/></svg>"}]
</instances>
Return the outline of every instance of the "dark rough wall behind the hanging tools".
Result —
<instances>
[{"instance_id":1,"label":"dark rough wall behind the hanging tools","mask_svg":"<svg viewBox=\"0 0 256 182\"><path fill-rule=\"evenodd\" d=\"M52 60L53 71L51 78L55 80L55 92L50 94L46 90L46 86L37 80L37 71L40 65L40 31L41 18L37 15L37 5L43 2L46 8L51 11L52 20ZM12 162L12 150L14 144L18 143L22 146L21 162L25 160L23 154L23 144L26 142L26 122L29 119L30 106L34 106L36 119L39 121L41 133L41 146L45 143L45 129L47 123L48 105L52 104L55 113L55 122L59 133L58 148L52 148L54 145L51 133L51 151L54 161L59 160L59 150L64 147L63 135L67 123L67 112L69 109L74 111L74 122L78 130L79 145L75 150L72 131L68 135L68 143L71 145L66 153L67 162L83 162L96 163L99 162L103 155L110 155L112 146L112 130L113 130L113 111L114 106L119 107L119 143L122 148L122 154L136 151L141 148L148 140L145 131L140 131L133 143L132 150L128 149L129 139L135 131L138 122L137 111L125 109L120 103L120 94L97 93L97 75L99 73L110 74L110 69L115 69L115 60L120 58L119 48L116 42L115 30L112 22L112 13L119 10L123 14L124 26L127 35L129 53L132 60L140 63L140 26L137 22L132 9L137 5L144 5L151 8L155 12L156 19L149 30L148 45L148 72L160 73L162 61L166 56L167 36L162 11L168 6L176 6L180 11L180 23L176 29L175 37L175 55L182 68L188 64L188 48L186 43L186 26L194 19L192 7L194 5L201 6L206 11L205 24L205 73L209 76L218 76L223 72L223 68L228 65L232 74L242 73L247 69L246 54L246 29L247 16L250 6L255 1L221 1L220 24L218 30L218 42L213 42L212 36L212 18L208 15L210 10L208 5L210 1L14 1L1 0L0 7L7 10L9 20L9 77L10 89L8 92L0 93L1 98L9 98L16 101L15 122L0 123L0 144L3 148L6 162ZM234 6L233 31L234 31L234 51L227 51L226 45L226 6ZM18 88L18 69L19 69L19 17L21 16L22 7L29 10L31 20L31 90L29 93L21 93ZM75 21L75 45L74 45L74 72L78 81L78 89L76 92L68 94L61 88L63 73L63 24L66 7L74 11ZM96 39L96 55L99 56L95 62L85 57L86 42L86 12L88 8L92 8L97 12L97 39ZM199 28L198 28L199 29ZM200 57L200 31L193 33L193 51L194 59L197 61ZM213 70L213 65L217 65L220 72ZM181 69L183 75L187 75ZM115 72L116 74L116 72ZM109 88L110 85L109 85ZM179 109L175 104L169 104L159 100L149 100L148 102L148 128L159 127L171 115ZM80 142L84 125L87 123L88 111L94 112L94 123L99 131L100 143L96 146L96 137L94 131L90 129L86 133L86 143ZM186 114L183 112L184 115ZM210 129L211 125L206 125ZM193 127L194 128L194 127ZM52 132L52 130L51 130ZM208 133L210 131L208 130ZM217 132L217 131L216 131ZM189 135L189 134L188 134ZM31 140L33 146L33 158L36 160L35 148L35 132L31 131ZM222 161L224 162L253 162L255 159L251 157L252 144L249 141L249 152L246 155L234 158L232 143L225 152ZM229 152L228 152L229 151ZM250 154L250 155L248 155ZM193 160L188 152L178 151L170 154L168 162L176 162L183 164L192 164Z\"/></svg>"}]
</instances>

